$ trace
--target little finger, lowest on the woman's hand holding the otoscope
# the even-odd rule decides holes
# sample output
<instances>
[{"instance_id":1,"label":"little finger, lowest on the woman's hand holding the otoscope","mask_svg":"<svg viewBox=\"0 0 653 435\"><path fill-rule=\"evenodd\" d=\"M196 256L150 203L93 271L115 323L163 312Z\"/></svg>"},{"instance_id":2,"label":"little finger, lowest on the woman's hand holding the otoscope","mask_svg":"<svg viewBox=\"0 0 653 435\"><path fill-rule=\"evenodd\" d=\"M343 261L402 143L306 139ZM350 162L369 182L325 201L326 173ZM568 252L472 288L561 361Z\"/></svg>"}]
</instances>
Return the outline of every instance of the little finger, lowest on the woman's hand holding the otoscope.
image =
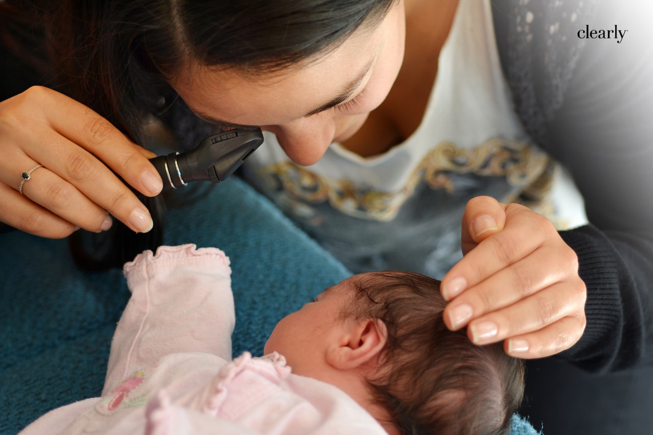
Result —
<instances>
[{"instance_id":1,"label":"little finger, lowest on the woman's hand holding the otoscope","mask_svg":"<svg viewBox=\"0 0 653 435\"><path fill-rule=\"evenodd\" d=\"M26 233L62 239L76 229L74 224L31 202L15 188L0 184L0 221Z\"/></svg>"}]
</instances>

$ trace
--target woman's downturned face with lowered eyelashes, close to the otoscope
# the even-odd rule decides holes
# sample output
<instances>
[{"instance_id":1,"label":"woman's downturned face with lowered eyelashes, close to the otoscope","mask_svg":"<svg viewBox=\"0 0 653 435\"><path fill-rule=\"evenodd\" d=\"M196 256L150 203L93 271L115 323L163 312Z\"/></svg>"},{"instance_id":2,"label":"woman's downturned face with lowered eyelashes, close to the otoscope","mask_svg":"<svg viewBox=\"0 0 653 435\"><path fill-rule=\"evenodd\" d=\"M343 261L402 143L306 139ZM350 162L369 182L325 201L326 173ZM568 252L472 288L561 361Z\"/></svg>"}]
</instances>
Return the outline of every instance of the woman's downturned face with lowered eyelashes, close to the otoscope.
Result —
<instances>
[{"instance_id":1,"label":"woman's downturned face with lowered eyelashes, close to the otoscope","mask_svg":"<svg viewBox=\"0 0 653 435\"><path fill-rule=\"evenodd\" d=\"M173 83L197 115L212 123L274 132L293 161L310 165L331 142L360 128L387 97L404 57L404 2L377 27L358 29L336 50L299 68L255 78L236 70L189 68Z\"/></svg>"}]
</instances>

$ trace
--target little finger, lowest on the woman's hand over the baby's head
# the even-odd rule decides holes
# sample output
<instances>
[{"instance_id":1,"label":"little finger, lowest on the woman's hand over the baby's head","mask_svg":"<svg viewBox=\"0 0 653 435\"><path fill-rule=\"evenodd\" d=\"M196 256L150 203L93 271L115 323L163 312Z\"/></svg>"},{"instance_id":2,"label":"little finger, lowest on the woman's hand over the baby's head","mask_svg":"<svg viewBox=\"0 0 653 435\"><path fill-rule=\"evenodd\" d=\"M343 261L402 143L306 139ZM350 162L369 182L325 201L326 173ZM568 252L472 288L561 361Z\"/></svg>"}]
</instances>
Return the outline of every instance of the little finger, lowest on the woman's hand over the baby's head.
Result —
<instances>
[{"instance_id":1,"label":"little finger, lowest on the woman's hand over the baby's head","mask_svg":"<svg viewBox=\"0 0 653 435\"><path fill-rule=\"evenodd\" d=\"M584 317L564 317L539 331L505 340L503 349L516 358L550 357L576 344L581 339L585 325Z\"/></svg>"}]
</instances>

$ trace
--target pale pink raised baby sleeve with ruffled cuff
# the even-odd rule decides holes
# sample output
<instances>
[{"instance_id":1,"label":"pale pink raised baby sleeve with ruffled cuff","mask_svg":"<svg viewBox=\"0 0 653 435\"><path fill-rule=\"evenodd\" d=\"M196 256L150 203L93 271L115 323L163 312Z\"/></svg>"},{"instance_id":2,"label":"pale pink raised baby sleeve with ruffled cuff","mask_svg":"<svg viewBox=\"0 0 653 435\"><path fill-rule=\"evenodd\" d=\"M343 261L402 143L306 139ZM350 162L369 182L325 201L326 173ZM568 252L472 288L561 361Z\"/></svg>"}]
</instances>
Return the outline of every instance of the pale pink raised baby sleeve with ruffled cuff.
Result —
<instances>
[{"instance_id":1,"label":"pale pink raised baby sleeve with ruffled cuff","mask_svg":"<svg viewBox=\"0 0 653 435\"><path fill-rule=\"evenodd\" d=\"M111 344L103 395L174 352L231 360L235 314L229 258L217 248L159 247L125 264L132 292Z\"/></svg>"}]
</instances>

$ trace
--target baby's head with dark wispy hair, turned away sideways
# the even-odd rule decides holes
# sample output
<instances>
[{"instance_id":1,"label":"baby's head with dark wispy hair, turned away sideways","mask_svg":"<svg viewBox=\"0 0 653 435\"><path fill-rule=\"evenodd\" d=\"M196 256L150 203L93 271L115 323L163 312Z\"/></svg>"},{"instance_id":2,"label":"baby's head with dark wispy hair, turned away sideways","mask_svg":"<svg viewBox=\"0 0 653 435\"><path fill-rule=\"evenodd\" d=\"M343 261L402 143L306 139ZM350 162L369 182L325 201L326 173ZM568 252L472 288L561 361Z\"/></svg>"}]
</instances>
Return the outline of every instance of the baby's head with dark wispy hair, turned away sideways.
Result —
<instances>
[{"instance_id":1,"label":"baby's head with dark wispy hair, turned away sideways","mask_svg":"<svg viewBox=\"0 0 653 435\"><path fill-rule=\"evenodd\" d=\"M449 331L444 308L437 280L363 273L283 318L265 352L340 387L390 433L507 434L523 362Z\"/></svg>"}]
</instances>

